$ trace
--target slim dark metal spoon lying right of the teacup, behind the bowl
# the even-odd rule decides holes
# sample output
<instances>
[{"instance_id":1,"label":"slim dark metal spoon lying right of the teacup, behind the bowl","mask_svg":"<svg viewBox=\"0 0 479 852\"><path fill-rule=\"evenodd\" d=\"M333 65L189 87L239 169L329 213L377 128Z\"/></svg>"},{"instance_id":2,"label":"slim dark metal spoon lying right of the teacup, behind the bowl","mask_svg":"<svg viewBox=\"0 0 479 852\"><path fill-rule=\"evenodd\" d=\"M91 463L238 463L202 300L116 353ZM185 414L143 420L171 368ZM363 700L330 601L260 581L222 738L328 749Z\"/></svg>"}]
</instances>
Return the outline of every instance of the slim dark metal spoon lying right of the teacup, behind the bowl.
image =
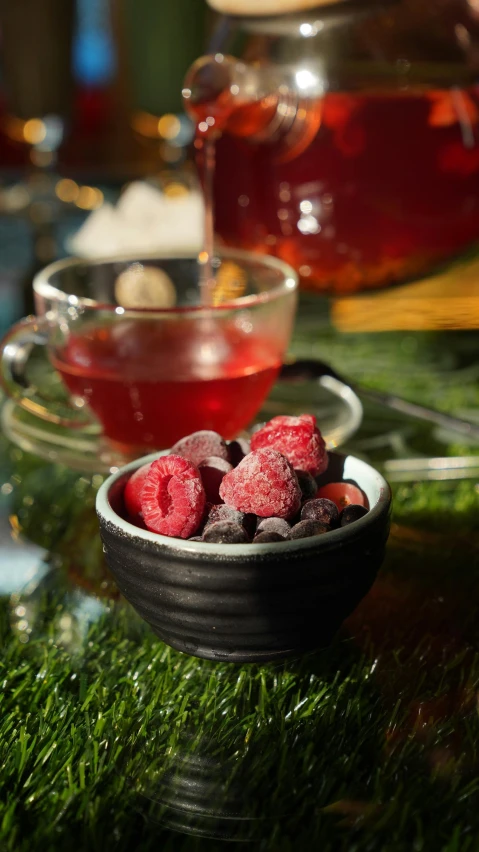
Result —
<instances>
[{"instance_id":1,"label":"slim dark metal spoon lying right of the teacup, behind the bowl","mask_svg":"<svg viewBox=\"0 0 479 852\"><path fill-rule=\"evenodd\" d=\"M291 364L285 364L281 371L281 378L286 381L294 381L295 379L303 379L304 381L320 379L322 376L332 376L349 385L359 396L370 399L379 405L385 405L388 408L399 411L401 414L407 414L410 417L416 417L419 420L425 420L427 423L434 423L436 426L441 426L443 429L452 429L473 441L479 442L479 425L470 423L468 420L461 420L459 417L453 417L451 414L444 414L442 411L436 411L434 408L427 408L425 405L419 405L417 402L409 402L395 394L385 393L384 391L372 390L363 385L345 379L336 370L326 364L324 361L316 359L301 359Z\"/></svg>"}]
</instances>

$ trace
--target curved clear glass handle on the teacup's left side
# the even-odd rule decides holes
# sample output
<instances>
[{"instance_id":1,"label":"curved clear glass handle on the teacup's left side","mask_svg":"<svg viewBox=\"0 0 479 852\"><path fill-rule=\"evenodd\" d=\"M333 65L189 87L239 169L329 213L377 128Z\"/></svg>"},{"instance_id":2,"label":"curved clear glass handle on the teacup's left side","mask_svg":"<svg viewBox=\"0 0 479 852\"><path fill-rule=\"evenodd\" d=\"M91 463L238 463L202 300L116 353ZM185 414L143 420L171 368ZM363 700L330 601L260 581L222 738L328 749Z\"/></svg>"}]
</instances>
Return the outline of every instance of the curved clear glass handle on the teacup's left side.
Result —
<instances>
[{"instance_id":1,"label":"curved clear glass handle on the teacup's left side","mask_svg":"<svg viewBox=\"0 0 479 852\"><path fill-rule=\"evenodd\" d=\"M17 322L7 332L0 342L0 384L10 399L35 417L70 429L92 425L94 421L89 412L81 411L73 400L55 402L61 414L51 411L48 406L53 400L42 396L28 381L26 368L31 352L36 346L46 346L48 328L45 318L30 316Z\"/></svg>"}]
</instances>

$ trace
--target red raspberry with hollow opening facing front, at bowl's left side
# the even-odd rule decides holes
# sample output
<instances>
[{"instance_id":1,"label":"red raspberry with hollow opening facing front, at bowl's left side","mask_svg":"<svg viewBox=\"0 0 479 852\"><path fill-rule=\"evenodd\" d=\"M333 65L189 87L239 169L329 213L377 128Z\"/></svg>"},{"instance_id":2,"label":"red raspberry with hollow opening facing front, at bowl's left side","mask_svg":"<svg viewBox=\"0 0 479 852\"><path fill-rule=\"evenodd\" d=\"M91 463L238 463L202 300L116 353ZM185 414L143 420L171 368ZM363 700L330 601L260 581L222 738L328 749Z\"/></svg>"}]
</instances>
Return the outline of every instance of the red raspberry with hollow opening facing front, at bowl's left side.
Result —
<instances>
[{"instance_id":1,"label":"red raspberry with hollow opening facing front, at bowl's left side","mask_svg":"<svg viewBox=\"0 0 479 852\"><path fill-rule=\"evenodd\" d=\"M201 523L205 502L200 474L191 462L177 455L152 462L141 491L141 510L149 530L188 538Z\"/></svg>"}]
</instances>

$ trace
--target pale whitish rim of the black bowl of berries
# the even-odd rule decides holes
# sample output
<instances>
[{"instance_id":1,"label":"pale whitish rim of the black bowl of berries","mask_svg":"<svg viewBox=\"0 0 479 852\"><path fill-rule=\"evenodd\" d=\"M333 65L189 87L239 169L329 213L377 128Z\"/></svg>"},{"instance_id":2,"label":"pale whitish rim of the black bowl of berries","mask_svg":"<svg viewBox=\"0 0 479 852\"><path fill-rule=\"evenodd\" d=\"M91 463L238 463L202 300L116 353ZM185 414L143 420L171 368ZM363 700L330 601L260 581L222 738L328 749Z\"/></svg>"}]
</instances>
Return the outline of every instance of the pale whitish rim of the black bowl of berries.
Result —
<instances>
[{"instance_id":1,"label":"pale whitish rim of the black bowl of berries","mask_svg":"<svg viewBox=\"0 0 479 852\"><path fill-rule=\"evenodd\" d=\"M295 541L274 542L274 544L255 544L254 549L252 549L252 543L250 542L245 544L212 544L206 541L188 541L188 539L160 535L160 533L143 530L140 527L136 527L134 524L130 524L129 521L125 521L112 509L108 495L115 482L121 479L126 473L133 473L144 464L149 464L155 459L160 458L160 456L168 455L168 453L169 450L163 450L157 453L150 453L147 456L142 456L142 458L136 459L135 461L120 468L120 470L116 471L105 480L103 485L101 485L98 489L96 497L96 511L104 521L116 527L122 533L126 533L132 538L143 539L144 541L150 542L150 544L158 544L162 547L169 547L175 550L184 550L187 553L204 553L205 555L208 554L210 556L225 556L225 554L230 554L231 556L241 556L244 558L246 556L252 557L254 554L274 554L282 553L283 551L291 552L296 550L308 550L312 547L318 547L320 544L326 549L329 543L334 545L339 540L344 541L351 537L354 538L365 526L374 522L385 510L388 510L391 504L390 486L379 471L367 462L362 461L362 459L358 459L356 456L347 455L344 456L345 459L351 459L354 465L358 464L365 472L367 471L369 476L374 476L379 486L379 498L377 503L375 503L375 505L369 510L367 515L364 515L363 518L359 518L359 520L354 521L354 523L349 524L346 527L331 530L331 532L325 533L324 536L310 536L309 538L301 538ZM336 455L343 454L338 453ZM360 482L358 484L361 485Z\"/></svg>"}]
</instances>

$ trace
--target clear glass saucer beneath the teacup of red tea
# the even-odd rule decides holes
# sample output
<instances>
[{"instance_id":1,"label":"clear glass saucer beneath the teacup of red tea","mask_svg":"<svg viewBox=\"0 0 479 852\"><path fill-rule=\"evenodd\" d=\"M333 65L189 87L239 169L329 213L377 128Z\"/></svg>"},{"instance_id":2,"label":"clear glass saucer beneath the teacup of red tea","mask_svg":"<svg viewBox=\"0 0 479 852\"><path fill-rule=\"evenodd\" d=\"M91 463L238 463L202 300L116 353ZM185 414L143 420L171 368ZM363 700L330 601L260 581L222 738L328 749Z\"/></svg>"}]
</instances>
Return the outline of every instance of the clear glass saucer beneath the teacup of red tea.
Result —
<instances>
[{"instance_id":1,"label":"clear glass saucer beneath the teacup of red tea","mask_svg":"<svg viewBox=\"0 0 479 852\"><path fill-rule=\"evenodd\" d=\"M363 416L361 402L348 385L322 376L291 383L278 381L256 421L303 412L316 414L328 449L344 444L357 431ZM74 470L110 473L131 461L97 431L55 426L13 400L3 403L0 424L6 437L25 452Z\"/></svg>"}]
</instances>

